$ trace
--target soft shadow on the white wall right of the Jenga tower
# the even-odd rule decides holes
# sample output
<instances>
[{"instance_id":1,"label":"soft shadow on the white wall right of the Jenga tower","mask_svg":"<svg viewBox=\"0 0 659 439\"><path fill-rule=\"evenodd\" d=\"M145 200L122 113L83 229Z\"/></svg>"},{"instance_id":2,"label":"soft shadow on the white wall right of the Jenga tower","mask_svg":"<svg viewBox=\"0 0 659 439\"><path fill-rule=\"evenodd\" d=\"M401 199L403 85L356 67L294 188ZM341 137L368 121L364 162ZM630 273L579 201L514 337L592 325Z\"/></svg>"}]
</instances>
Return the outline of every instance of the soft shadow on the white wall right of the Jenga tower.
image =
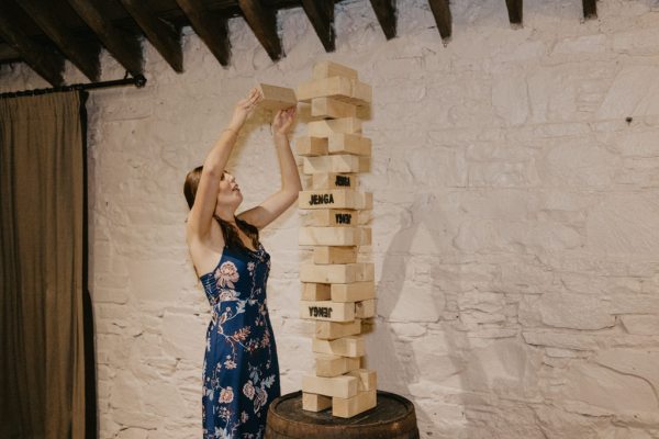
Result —
<instances>
[{"instance_id":1,"label":"soft shadow on the white wall right of the Jenga tower","mask_svg":"<svg viewBox=\"0 0 659 439\"><path fill-rule=\"evenodd\" d=\"M436 195L418 193L401 214L400 224L402 226L394 234L382 263L377 294L378 316L375 328L371 328L372 331L367 337L369 345L367 359L371 364L377 365L381 389L399 393L415 402L422 437L425 437L424 434L437 432L437 417L443 416L443 413L446 414L447 409L450 410L449 423L458 423L458 425L453 424L448 429L456 428L455 432L458 432L460 419L465 421L460 395L469 391L468 383L465 382L467 380L465 357L470 353L471 347L467 331L460 330L459 291L457 289L450 291L442 286L442 280L447 272L440 267L439 252L445 254L451 248L450 238L446 237L447 218ZM431 267L427 283L432 290L429 294L432 300L428 301L425 295L425 301L416 302L414 292L406 294L405 289L414 281L407 279L406 272L412 262L412 245L421 228L427 230L424 235L429 234L432 237L435 252L428 255ZM429 244L427 243L428 247ZM455 258L459 259L459 256ZM454 263L459 264L460 260L455 260ZM457 277L459 278L459 274ZM458 285L461 283L460 279L454 281ZM415 303L401 303L401 301L415 301ZM434 306L434 312L425 309L426 306ZM392 319L392 314L398 307L405 311L403 318L394 316ZM410 318L415 311L423 313L422 319ZM436 316L434 320L428 318L432 315ZM405 330L405 325L411 328ZM396 334L396 328L402 328L399 329L402 334ZM423 353L418 354L420 351ZM482 365L473 358L470 358L468 374L484 375ZM424 386L424 380L426 383L438 380L447 383L447 389L455 389L449 398L457 396L458 402L446 402L443 396L447 395L438 395L434 389ZM428 404L420 404L420 402ZM439 407L442 413L434 410L435 407ZM448 431L443 428L442 432Z\"/></svg>"}]
</instances>

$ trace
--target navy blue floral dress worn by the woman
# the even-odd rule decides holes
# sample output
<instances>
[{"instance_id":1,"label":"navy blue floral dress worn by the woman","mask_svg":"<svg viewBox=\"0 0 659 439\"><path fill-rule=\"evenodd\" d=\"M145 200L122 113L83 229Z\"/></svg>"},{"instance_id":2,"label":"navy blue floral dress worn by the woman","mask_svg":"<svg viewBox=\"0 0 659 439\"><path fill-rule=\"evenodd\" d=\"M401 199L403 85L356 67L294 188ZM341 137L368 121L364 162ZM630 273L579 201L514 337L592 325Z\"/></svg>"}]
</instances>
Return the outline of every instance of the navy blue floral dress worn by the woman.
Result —
<instances>
[{"instance_id":1,"label":"navy blue floral dress worn by the woman","mask_svg":"<svg viewBox=\"0 0 659 439\"><path fill-rule=\"evenodd\" d=\"M270 255L224 248L200 280L212 306L203 362L203 439L260 439L280 392L266 299Z\"/></svg>"}]
</instances>

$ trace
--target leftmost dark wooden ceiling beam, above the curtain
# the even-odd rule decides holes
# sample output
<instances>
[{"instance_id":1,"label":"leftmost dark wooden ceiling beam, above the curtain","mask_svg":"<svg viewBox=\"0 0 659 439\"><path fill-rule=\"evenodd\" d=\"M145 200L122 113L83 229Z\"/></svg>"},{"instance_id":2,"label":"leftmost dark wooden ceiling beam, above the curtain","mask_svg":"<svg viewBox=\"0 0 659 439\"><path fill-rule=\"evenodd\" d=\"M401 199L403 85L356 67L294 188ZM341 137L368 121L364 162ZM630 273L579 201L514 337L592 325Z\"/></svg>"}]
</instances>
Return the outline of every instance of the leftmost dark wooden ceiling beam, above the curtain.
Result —
<instances>
[{"instance_id":1,"label":"leftmost dark wooden ceiling beam, above the curtain","mask_svg":"<svg viewBox=\"0 0 659 439\"><path fill-rule=\"evenodd\" d=\"M64 83L64 57L32 41L12 18L11 10L0 1L0 35L2 38L38 76L53 87L62 86Z\"/></svg>"}]
</instances>

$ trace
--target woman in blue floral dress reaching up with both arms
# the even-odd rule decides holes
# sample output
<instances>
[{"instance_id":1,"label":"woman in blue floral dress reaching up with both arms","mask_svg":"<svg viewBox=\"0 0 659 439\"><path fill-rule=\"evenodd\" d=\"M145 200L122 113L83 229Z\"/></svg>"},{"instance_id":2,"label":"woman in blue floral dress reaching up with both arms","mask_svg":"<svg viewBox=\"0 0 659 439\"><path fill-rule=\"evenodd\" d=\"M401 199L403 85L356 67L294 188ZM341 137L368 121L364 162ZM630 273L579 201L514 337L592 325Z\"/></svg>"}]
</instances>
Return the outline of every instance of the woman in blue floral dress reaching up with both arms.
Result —
<instances>
[{"instance_id":1,"label":"woman in blue floral dress reaching up with both arms","mask_svg":"<svg viewBox=\"0 0 659 439\"><path fill-rule=\"evenodd\" d=\"M302 185L288 134L295 109L279 111L272 135L281 189L236 216L243 194L225 167L238 132L263 99L241 100L202 167L186 178L190 206L186 239L212 306L203 365L203 438L263 438L268 405L280 395L279 363L268 316L270 256L259 230L298 199Z\"/></svg>"}]
</instances>

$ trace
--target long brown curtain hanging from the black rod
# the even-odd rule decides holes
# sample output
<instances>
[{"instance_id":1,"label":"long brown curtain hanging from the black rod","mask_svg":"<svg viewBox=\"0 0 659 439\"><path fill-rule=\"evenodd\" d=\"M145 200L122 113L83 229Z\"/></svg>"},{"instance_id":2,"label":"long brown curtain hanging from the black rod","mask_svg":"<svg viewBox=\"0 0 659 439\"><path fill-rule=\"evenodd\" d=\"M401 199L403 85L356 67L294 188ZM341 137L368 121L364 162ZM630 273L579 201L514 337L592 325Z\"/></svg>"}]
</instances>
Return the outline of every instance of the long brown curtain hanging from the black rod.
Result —
<instances>
[{"instance_id":1,"label":"long brown curtain hanging from the black rod","mask_svg":"<svg viewBox=\"0 0 659 439\"><path fill-rule=\"evenodd\" d=\"M86 437L85 97L0 99L2 438Z\"/></svg>"}]
</instances>

